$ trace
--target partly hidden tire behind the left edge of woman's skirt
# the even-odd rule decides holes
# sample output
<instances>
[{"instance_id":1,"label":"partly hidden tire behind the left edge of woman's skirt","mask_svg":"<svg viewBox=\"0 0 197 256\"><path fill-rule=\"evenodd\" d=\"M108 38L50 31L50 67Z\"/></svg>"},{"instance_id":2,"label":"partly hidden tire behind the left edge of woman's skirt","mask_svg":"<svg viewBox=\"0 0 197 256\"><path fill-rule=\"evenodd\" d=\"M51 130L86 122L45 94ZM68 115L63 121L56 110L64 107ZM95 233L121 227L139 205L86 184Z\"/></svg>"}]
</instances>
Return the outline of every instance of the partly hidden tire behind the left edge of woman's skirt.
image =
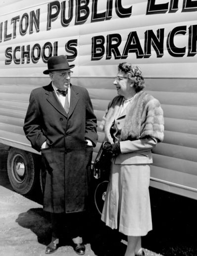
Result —
<instances>
[{"instance_id":1,"label":"partly hidden tire behind the left edge of woman's skirt","mask_svg":"<svg viewBox=\"0 0 197 256\"><path fill-rule=\"evenodd\" d=\"M103 181L99 183L95 190L95 205L97 207L97 210L99 214L102 213L102 208L104 205L104 199L107 191L108 181Z\"/></svg>"}]
</instances>

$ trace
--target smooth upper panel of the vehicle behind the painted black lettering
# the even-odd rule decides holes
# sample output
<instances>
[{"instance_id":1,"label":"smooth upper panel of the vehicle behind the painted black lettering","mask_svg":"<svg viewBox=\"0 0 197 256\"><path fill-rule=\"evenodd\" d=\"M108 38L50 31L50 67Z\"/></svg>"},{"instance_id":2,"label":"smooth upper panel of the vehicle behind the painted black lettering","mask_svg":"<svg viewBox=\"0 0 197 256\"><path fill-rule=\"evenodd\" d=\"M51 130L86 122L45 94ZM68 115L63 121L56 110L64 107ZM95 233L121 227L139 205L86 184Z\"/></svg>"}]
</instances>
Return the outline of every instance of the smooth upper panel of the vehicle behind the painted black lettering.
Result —
<instances>
[{"instance_id":1,"label":"smooth upper panel of the vehicle behind the painted black lettering","mask_svg":"<svg viewBox=\"0 0 197 256\"><path fill-rule=\"evenodd\" d=\"M66 17L68 17L68 1L66 8ZM106 0L98 1L98 13L106 11ZM197 77L197 61L196 56L187 57L189 51L189 28L196 24L196 11L183 12L181 4L179 5L179 10L174 13L169 13L169 9L166 10L164 14L153 14L146 15L148 1L130 1L124 0L121 2L124 8L132 6L132 14L128 17L120 18L118 17L113 1L112 17L110 19L91 22L92 15L92 5L93 2L90 0L88 8L90 10L87 20L81 24L76 25L76 2L73 1L73 18L70 24L66 27L61 25L61 12L56 19L51 21L51 29L47 30L47 17L48 17L48 4L49 1L46 0L35 0L32 3L26 0L10 0L3 2L0 14L0 20L4 22L7 20L7 31L6 34L13 34L13 24L11 24L11 19L17 15L22 17L24 13L30 16L32 11L36 12L40 9L40 31L36 32L35 26L33 33L29 33L29 27L27 33L23 36L19 33L20 21L16 22L16 37L11 40L4 41L0 43L0 76L10 74L13 76L18 76L21 68L23 67L23 75L43 75L43 70L46 68L46 64L40 59L37 64L30 61L29 64L14 64L13 62L8 66L4 64L5 61L5 50L7 47L12 47L12 52L15 47L25 47L30 45L30 49L34 47L35 44L40 44L41 49L46 43L51 43L52 47L54 42L58 43L58 55L70 53L65 52L65 44L69 40L77 40L77 58L75 59L76 66L74 67L74 72L77 76L113 76L117 72L117 64L120 60L114 60L114 54L112 52L112 57L110 60L106 60L107 52L107 36L113 34L119 34L121 36L121 43L118 46L120 54L123 54L124 48L127 44L128 35L131 32L135 32L142 51L145 51L145 34L146 31L152 30L155 35L159 29L164 29L163 38L163 56L157 58L155 50L151 47L151 57L150 58L137 58L136 53L128 53L128 58L126 59L132 64L138 64L141 66L145 76L149 77ZM84 3L82 3L83 6ZM170 4L168 4L169 7ZM55 10L53 9L53 12ZM83 14L82 14L83 16ZM170 32L179 26L186 26L186 33L178 33L175 35L173 41L177 48L186 49L185 55L181 58L175 58L171 56L168 52L167 39ZM23 22L23 28L25 27L25 21ZM4 31L3 31L4 32ZM2 33L4 36L4 33ZM103 36L104 37L104 53L103 57L99 61L92 61L92 40L94 37ZM115 44L113 41L112 44ZM21 49L20 49L21 50ZM173 51L173 49L171 49ZM98 50L99 52L99 50ZM48 51L46 51L48 55ZM16 58L21 59L21 52L16 52ZM186 67L187 65L187 67ZM43 75L45 76L45 75Z\"/></svg>"}]
</instances>

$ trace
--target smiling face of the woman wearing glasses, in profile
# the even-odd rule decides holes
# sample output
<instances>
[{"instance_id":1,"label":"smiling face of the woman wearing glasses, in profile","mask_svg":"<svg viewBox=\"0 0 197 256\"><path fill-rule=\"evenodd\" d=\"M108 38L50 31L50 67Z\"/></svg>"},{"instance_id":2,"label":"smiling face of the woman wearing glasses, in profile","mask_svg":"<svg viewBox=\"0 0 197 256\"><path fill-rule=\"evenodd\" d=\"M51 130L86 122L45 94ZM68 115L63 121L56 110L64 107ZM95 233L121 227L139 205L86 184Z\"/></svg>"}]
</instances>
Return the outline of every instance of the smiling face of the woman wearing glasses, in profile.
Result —
<instances>
[{"instance_id":1,"label":"smiling face of the woman wearing glasses, in profile","mask_svg":"<svg viewBox=\"0 0 197 256\"><path fill-rule=\"evenodd\" d=\"M118 71L117 76L113 84L116 86L118 95L125 98L133 91L132 80L129 78L129 74L125 74L122 71Z\"/></svg>"}]
</instances>

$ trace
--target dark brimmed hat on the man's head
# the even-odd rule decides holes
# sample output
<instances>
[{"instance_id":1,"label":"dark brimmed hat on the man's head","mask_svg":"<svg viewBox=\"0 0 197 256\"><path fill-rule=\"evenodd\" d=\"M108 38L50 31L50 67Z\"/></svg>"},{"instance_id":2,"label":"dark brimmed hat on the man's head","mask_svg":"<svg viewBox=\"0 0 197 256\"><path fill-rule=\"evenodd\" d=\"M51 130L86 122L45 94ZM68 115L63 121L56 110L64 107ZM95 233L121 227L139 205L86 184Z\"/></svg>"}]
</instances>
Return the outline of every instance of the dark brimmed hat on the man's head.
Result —
<instances>
[{"instance_id":1,"label":"dark brimmed hat on the man's head","mask_svg":"<svg viewBox=\"0 0 197 256\"><path fill-rule=\"evenodd\" d=\"M69 65L68 61L66 59L66 56L60 55L60 56L53 56L48 59L48 69L45 70L44 74L49 74L52 71L55 70L64 70L73 68L75 65Z\"/></svg>"}]
</instances>

